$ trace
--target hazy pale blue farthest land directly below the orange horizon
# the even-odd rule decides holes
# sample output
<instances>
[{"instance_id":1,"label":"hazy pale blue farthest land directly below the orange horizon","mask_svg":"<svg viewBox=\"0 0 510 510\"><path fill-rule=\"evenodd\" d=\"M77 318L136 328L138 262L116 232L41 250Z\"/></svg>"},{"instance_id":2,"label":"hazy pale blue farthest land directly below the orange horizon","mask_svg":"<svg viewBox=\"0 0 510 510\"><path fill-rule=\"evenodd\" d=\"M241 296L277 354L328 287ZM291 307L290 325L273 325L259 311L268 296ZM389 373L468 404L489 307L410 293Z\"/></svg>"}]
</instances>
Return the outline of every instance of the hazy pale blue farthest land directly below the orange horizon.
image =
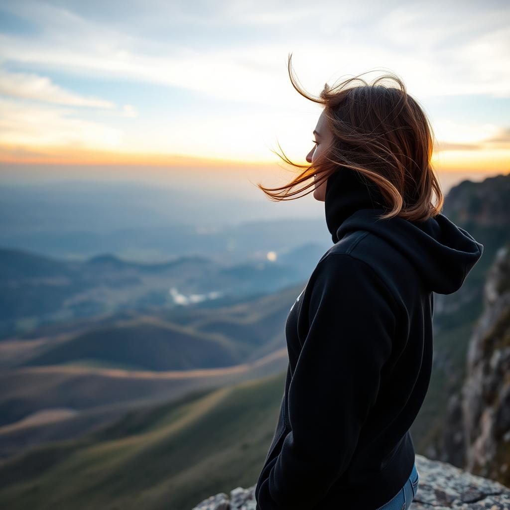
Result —
<instances>
[{"instance_id":1,"label":"hazy pale blue farthest land directly below the orange horizon","mask_svg":"<svg viewBox=\"0 0 510 510\"><path fill-rule=\"evenodd\" d=\"M165 261L194 253L227 266L264 260L270 251L279 256L304 242L327 249L320 203L307 196L271 204L243 172L235 174L226 188L212 174L197 182L187 172L168 186L117 180L0 183L0 246L63 260L112 253ZM236 192L233 179L240 186Z\"/></svg>"}]
</instances>

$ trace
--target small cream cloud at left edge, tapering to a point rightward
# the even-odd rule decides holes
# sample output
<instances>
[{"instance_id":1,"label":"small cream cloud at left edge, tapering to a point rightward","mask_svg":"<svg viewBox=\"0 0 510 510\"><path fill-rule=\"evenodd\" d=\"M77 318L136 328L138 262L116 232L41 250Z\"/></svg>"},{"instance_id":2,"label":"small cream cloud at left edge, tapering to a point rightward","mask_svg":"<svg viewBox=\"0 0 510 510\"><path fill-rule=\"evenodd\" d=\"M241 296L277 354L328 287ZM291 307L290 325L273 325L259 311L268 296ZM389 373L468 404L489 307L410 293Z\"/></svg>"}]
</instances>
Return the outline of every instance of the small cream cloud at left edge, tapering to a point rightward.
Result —
<instances>
[{"instance_id":1,"label":"small cream cloud at left edge, tapering to a point rightward","mask_svg":"<svg viewBox=\"0 0 510 510\"><path fill-rule=\"evenodd\" d=\"M92 108L115 108L111 101L84 97L65 90L44 76L35 73L7 72L0 69L0 94L37 99L58 105L85 106Z\"/></svg>"}]
</instances>

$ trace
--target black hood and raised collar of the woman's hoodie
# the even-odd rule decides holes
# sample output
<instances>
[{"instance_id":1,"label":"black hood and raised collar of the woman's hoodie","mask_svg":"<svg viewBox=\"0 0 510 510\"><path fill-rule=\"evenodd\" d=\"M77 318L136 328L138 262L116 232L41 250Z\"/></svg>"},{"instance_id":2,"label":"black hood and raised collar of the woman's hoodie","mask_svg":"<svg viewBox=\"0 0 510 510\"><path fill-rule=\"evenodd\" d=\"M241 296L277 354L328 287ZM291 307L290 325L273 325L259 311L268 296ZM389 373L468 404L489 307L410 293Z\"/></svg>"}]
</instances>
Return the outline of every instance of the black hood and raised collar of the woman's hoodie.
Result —
<instances>
[{"instance_id":1,"label":"black hood and raised collar of the woman's hoodie","mask_svg":"<svg viewBox=\"0 0 510 510\"><path fill-rule=\"evenodd\" d=\"M325 214L336 243L349 231L370 232L396 247L421 274L430 291L451 294L462 287L478 262L483 245L443 214L425 221L394 217L379 219L388 209L374 185L359 172L342 168L326 182Z\"/></svg>"}]
</instances>

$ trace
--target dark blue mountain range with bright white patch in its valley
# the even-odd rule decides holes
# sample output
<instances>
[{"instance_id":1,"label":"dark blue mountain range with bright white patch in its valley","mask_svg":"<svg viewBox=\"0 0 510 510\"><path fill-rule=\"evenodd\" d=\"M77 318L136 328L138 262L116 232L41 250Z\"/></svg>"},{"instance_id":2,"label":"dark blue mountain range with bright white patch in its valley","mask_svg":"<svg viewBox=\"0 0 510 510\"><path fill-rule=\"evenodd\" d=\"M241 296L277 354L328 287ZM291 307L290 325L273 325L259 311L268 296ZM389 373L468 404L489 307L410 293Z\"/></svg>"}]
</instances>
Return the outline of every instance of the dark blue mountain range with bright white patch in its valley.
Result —
<instances>
[{"instance_id":1,"label":"dark blue mountain range with bright white patch in its valley","mask_svg":"<svg viewBox=\"0 0 510 510\"><path fill-rule=\"evenodd\" d=\"M309 244L287 262L219 264L202 256L136 263L113 254L85 262L58 261L0 249L0 340L52 323L115 311L152 314L193 305L231 304L305 281L322 250Z\"/></svg>"}]
</instances>

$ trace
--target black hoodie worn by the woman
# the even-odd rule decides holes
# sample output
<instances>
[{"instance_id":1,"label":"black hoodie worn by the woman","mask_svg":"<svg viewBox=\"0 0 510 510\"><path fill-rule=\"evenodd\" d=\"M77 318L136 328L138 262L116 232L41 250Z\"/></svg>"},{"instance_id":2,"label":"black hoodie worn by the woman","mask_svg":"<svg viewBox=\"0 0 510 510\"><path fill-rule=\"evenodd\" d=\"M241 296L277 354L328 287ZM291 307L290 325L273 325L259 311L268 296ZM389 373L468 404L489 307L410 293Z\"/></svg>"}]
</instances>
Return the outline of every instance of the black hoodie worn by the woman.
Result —
<instances>
[{"instance_id":1,"label":"black hoodie worn by the woman","mask_svg":"<svg viewBox=\"0 0 510 510\"><path fill-rule=\"evenodd\" d=\"M257 510L375 510L411 474L409 428L432 367L433 292L460 289L483 245L443 214L378 219L383 204L354 170L327 180L335 244L287 317L285 392Z\"/></svg>"}]
</instances>

